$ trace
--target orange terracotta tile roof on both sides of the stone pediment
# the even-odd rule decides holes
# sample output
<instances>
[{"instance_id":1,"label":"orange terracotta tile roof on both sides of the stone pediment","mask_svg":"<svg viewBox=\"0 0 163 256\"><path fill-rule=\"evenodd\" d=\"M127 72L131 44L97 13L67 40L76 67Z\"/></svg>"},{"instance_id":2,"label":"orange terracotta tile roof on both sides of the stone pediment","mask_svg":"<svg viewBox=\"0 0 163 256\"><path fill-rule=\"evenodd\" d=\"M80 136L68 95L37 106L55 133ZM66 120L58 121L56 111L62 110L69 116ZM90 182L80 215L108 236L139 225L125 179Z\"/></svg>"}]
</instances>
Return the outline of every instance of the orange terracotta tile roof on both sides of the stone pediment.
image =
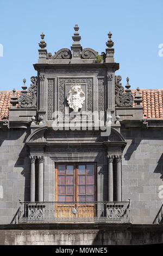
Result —
<instances>
[{"instance_id":1,"label":"orange terracotta tile roof on both sides of the stone pediment","mask_svg":"<svg viewBox=\"0 0 163 256\"><path fill-rule=\"evenodd\" d=\"M135 97L137 91L131 89L131 94ZM163 119L163 89L141 89L142 95L141 105L143 106L143 114L145 118ZM16 96L20 97L21 91L16 91ZM9 117L9 108L11 107L10 99L12 91L0 91L0 120L4 115ZM133 103L135 107L135 103Z\"/></svg>"}]
</instances>

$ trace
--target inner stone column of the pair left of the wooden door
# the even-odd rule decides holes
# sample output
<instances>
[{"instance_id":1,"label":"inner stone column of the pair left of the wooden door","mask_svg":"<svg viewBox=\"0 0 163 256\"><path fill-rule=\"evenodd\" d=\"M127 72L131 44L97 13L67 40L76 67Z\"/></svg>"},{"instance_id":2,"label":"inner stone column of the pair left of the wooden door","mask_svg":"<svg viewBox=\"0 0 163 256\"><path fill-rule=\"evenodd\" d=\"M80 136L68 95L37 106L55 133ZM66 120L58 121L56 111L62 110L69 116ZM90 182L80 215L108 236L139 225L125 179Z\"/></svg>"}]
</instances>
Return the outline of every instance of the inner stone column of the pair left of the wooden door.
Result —
<instances>
[{"instance_id":1,"label":"inner stone column of the pair left of the wooden door","mask_svg":"<svg viewBox=\"0 0 163 256\"><path fill-rule=\"evenodd\" d=\"M39 202L43 202L43 156L37 157L39 162Z\"/></svg>"}]
</instances>

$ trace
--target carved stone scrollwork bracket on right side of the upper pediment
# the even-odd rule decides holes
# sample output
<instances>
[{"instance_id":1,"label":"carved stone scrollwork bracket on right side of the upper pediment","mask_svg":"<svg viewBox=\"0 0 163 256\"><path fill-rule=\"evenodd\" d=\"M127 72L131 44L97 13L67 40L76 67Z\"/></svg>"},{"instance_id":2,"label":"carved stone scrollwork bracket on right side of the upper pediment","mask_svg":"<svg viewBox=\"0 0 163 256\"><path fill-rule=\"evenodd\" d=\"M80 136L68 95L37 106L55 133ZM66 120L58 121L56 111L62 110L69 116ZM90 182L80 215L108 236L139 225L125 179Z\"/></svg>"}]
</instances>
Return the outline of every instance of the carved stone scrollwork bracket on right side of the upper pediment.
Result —
<instances>
[{"instance_id":1,"label":"carved stone scrollwork bracket on right side of the upper pediment","mask_svg":"<svg viewBox=\"0 0 163 256\"><path fill-rule=\"evenodd\" d=\"M117 107L133 107L133 95L130 92L124 92L121 83L122 77L115 76L115 103Z\"/></svg>"}]
</instances>

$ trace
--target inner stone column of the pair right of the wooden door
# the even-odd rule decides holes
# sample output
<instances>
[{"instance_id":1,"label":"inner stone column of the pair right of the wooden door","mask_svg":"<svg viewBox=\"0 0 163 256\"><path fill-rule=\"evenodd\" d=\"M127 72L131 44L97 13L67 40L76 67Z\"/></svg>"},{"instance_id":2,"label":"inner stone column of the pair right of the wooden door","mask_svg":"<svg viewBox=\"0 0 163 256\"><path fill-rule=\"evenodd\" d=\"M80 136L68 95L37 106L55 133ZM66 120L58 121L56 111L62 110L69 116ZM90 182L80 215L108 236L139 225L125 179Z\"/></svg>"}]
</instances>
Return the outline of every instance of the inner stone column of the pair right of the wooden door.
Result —
<instances>
[{"instance_id":1,"label":"inner stone column of the pair right of the wooden door","mask_svg":"<svg viewBox=\"0 0 163 256\"><path fill-rule=\"evenodd\" d=\"M108 155L108 200L113 201L113 168L114 156Z\"/></svg>"}]
</instances>

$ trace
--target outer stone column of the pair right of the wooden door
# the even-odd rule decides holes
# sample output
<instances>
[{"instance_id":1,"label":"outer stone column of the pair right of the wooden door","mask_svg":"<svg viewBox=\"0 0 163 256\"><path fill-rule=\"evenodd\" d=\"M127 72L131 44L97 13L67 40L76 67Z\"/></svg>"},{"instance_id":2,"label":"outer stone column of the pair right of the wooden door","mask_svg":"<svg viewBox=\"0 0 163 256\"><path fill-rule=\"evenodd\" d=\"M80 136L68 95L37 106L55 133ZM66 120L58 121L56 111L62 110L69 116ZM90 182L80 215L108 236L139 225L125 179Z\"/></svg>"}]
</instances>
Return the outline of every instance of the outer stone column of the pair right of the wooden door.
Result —
<instances>
[{"instance_id":1,"label":"outer stone column of the pair right of the wooden door","mask_svg":"<svg viewBox=\"0 0 163 256\"><path fill-rule=\"evenodd\" d=\"M122 201L122 170L121 170L122 156L116 156L116 194L117 201Z\"/></svg>"}]
</instances>

